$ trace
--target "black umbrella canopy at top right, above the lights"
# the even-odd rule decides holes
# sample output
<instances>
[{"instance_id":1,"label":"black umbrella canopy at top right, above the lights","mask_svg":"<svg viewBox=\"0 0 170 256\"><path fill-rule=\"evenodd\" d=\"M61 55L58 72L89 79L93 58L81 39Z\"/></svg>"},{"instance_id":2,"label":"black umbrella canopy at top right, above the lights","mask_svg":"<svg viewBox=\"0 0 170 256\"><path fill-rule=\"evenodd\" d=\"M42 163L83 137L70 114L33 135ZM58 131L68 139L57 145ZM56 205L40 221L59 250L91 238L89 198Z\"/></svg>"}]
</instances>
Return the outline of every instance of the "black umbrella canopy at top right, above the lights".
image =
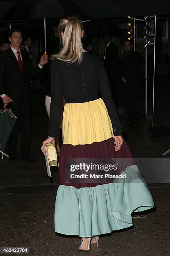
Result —
<instances>
[{"instance_id":1,"label":"black umbrella canopy at top right, above the lights","mask_svg":"<svg viewBox=\"0 0 170 256\"><path fill-rule=\"evenodd\" d=\"M168 0L74 0L94 19L145 15L169 15Z\"/></svg>"}]
</instances>

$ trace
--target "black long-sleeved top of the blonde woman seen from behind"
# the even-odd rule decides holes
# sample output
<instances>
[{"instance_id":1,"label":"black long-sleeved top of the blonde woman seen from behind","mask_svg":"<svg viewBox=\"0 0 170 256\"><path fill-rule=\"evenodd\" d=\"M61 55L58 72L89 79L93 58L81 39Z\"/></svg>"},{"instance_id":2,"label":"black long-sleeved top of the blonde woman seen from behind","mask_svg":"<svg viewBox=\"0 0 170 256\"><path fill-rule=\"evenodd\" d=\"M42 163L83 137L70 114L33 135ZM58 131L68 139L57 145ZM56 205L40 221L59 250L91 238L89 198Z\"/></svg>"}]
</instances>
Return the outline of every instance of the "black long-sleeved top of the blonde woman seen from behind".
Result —
<instances>
[{"instance_id":1,"label":"black long-sleeved top of the blonde woman seen from behind","mask_svg":"<svg viewBox=\"0 0 170 256\"><path fill-rule=\"evenodd\" d=\"M102 98L105 102L113 133L121 135L122 124L112 100L110 85L105 68L100 60L85 52L82 63L67 63L59 59L51 62L51 105L48 135L55 137L60 126L62 96L66 103L88 102Z\"/></svg>"}]
</instances>

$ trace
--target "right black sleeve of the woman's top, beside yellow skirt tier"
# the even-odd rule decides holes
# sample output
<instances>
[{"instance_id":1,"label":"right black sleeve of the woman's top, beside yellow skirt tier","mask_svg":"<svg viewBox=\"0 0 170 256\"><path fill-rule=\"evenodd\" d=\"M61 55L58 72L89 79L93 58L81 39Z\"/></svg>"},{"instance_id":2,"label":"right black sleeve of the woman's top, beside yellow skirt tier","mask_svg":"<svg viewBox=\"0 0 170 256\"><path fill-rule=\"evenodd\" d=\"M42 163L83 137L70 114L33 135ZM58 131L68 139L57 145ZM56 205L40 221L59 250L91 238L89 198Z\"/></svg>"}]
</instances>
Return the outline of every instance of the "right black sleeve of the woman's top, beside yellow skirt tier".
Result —
<instances>
[{"instance_id":1,"label":"right black sleeve of the woman's top, beside yellow skirt tier","mask_svg":"<svg viewBox=\"0 0 170 256\"><path fill-rule=\"evenodd\" d=\"M100 64L100 74L99 74L99 90L102 100L105 102L107 112L109 114L110 120L112 122L113 134L115 136L121 135L123 131L123 126L118 118L115 103L112 100L112 92L110 89L110 84L107 78L107 73L104 67Z\"/></svg>"}]
</instances>

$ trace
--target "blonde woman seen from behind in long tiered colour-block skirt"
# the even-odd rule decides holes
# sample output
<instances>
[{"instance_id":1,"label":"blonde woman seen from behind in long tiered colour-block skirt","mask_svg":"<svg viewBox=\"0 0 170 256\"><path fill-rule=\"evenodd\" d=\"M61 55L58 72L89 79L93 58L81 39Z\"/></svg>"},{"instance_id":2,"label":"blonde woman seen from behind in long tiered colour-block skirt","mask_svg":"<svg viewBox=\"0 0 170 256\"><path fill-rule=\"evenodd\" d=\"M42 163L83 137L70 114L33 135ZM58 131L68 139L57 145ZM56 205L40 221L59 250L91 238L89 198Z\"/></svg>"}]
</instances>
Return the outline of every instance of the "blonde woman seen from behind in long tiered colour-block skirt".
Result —
<instances>
[{"instance_id":1,"label":"blonde woman seen from behind in long tiered colour-block skirt","mask_svg":"<svg viewBox=\"0 0 170 256\"><path fill-rule=\"evenodd\" d=\"M60 151L60 186L55 202L55 232L82 237L80 251L90 251L91 243L98 246L99 236L112 230L133 225L132 212L154 207L138 167L123 163L121 174L140 182L125 182L125 178L110 182L74 182L68 159L132 159L123 141L122 124L112 100L110 85L100 60L82 47L84 30L75 15L60 19L62 47L51 63L51 105L48 138L42 143L55 143L62 114L63 144ZM69 165L70 166L70 165Z\"/></svg>"}]
</instances>

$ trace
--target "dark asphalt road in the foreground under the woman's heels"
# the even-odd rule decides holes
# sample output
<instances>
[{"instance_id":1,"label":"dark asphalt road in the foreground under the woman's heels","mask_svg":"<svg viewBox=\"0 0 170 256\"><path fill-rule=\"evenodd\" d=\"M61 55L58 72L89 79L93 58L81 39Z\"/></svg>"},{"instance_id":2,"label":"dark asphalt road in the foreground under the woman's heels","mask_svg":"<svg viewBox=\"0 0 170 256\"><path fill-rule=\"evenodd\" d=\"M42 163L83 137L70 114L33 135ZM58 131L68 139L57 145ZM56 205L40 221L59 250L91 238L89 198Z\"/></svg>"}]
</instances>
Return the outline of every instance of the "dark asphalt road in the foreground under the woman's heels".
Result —
<instances>
[{"instance_id":1,"label":"dark asphalt road in the foreground under the woman's heels","mask_svg":"<svg viewBox=\"0 0 170 256\"><path fill-rule=\"evenodd\" d=\"M170 253L170 188L151 188L156 210L134 219L134 228L100 238L88 255L149 256ZM54 232L56 192L4 194L0 196L0 246L29 247L31 256L77 256L80 238ZM24 254L20 254L24 255Z\"/></svg>"}]
</instances>

